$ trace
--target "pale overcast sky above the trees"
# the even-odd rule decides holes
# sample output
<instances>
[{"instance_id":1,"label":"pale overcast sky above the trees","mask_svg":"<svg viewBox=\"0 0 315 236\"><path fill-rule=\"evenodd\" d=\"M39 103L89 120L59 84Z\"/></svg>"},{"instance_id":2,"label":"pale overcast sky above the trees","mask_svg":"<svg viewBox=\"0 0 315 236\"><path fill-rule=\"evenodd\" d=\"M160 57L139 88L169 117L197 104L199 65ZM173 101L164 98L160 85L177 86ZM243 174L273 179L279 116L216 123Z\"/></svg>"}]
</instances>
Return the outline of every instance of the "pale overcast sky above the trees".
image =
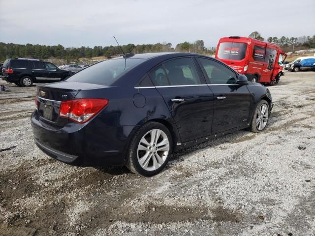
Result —
<instances>
[{"instance_id":1,"label":"pale overcast sky above the trees","mask_svg":"<svg viewBox=\"0 0 315 236\"><path fill-rule=\"evenodd\" d=\"M64 47L315 34L315 0L0 0L0 42Z\"/></svg>"}]
</instances>

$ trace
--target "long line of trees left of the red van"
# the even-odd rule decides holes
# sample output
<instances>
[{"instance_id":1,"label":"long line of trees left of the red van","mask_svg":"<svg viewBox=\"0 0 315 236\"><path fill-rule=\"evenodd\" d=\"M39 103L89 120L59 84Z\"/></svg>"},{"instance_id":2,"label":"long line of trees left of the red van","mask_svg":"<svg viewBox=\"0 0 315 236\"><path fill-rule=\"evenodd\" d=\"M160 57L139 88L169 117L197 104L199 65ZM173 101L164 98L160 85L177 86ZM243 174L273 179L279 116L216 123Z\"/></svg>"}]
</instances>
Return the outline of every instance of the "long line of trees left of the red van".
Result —
<instances>
[{"instance_id":1,"label":"long line of trees left of the red van","mask_svg":"<svg viewBox=\"0 0 315 236\"><path fill-rule=\"evenodd\" d=\"M156 43L122 45L125 53L151 53L151 52L191 52L201 54L213 54L215 48L205 48L203 40L197 40L193 43L184 42L172 47L171 43ZM65 48L63 45L46 46L33 44L15 44L0 42L0 61L8 58L32 58L32 59L65 59L77 60L79 58L101 57L111 58L114 55L123 54L119 46L95 46L90 47L70 47Z\"/></svg>"}]
</instances>

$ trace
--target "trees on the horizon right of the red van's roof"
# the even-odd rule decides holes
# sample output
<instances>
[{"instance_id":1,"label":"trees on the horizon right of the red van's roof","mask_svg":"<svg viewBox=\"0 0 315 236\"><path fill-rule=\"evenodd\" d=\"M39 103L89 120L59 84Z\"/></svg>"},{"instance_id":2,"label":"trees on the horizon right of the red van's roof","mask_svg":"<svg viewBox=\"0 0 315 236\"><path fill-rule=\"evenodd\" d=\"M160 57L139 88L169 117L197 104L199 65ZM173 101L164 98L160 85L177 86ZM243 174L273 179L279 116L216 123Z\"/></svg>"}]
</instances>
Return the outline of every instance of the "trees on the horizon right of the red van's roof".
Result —
<instances>
[{"instance_id":1,"label":"trees on the horizon right of the red van's roof","mask_svg":"<svg viewBox=\"0 0 315 236\"><path fill-rule=\"evenodd\" d=\"M255 38L261 41L265 39L257 31L249 35L250 38ZM295 51L308 48L315 48L315 34L313 36L300 36L300 37L268 37L267 42L274 43L280 46L284 51Z\"/></svg>"}]
</instances>

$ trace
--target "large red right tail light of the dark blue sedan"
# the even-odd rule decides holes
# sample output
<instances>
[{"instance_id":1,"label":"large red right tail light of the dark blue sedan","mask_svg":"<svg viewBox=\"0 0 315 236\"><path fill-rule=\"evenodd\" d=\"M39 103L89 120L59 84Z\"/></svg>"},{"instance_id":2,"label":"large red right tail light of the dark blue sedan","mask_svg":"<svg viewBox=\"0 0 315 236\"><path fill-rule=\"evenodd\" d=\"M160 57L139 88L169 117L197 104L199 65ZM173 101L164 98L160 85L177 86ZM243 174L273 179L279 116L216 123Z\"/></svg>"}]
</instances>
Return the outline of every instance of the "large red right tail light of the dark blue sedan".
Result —
<instances>
[{"instance_id":1,"label":"large red right tail light of the dark blue sedan","mask_svg":"<svg viewBox=\"0 0 315 236\"><path fill-rule=\"evenodd\" d=\"M85 123L100 112L107 104L107 99L81 98L63 101L59 116L78 123Z\"/></svg>"}]
</instances>

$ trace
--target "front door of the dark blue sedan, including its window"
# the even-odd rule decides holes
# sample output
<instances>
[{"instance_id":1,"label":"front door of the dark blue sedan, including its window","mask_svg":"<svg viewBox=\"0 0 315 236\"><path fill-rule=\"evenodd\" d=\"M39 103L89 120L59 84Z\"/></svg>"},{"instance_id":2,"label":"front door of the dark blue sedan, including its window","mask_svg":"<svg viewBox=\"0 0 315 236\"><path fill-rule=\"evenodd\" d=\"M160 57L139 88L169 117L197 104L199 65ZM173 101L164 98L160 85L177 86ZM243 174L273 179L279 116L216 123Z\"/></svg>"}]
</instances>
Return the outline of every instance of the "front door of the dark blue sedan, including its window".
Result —
<instances>
[{"instance_id":1,"label":"front door of the dark blue sedan, including its window","mask_svg":"<svg viewBox=\"0 0 315 236\"><path fill-rule=\"evenodd\" d=\"M252 105L247 86L236 84L237 73L223 63L206 58L198 61L215 99L212 134L247 125Z\"/></svg>"}]
</instances>

